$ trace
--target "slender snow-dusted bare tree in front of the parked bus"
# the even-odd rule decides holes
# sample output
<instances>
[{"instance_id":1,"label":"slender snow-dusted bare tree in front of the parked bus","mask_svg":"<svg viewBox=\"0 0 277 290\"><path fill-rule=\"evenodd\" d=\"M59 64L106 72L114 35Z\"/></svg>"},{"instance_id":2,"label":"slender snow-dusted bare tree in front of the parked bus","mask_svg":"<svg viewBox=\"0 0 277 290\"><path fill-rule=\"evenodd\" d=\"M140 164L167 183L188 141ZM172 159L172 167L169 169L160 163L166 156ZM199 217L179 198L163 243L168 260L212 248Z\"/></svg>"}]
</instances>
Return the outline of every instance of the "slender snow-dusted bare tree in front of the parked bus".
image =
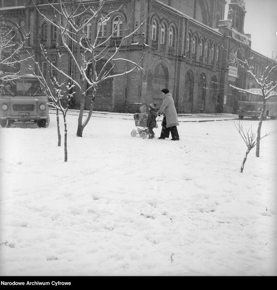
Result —
<instances>
[{"instance_id":1,"label":"slender snow-dusted bare tree in front of the parked bus","mask_svg":"<svg viewBox=\"0 0 277 290\"><path fill-rule=\"evenodd\" d=\"M275 95L275 89L277 88L277 80L271 81L270 76L271 74L276 71L277 69L277 62L276 59L272 59L269 64L266 66L264 71L262 72L261 77L258 77L254 73L253 67L249 64L248 59L244 56L243 51L239 48L240 54L242 55L242 59L237 58L235 55L234 58L236 59L239 66L244 68L246 70L246 73L248 73L253 80L256 82L258 87L257 91L251 91L251 94L253 95L262 95L262 111L259 118L259 124L257 129L257 146L256 146L256 157L260 157L260 140L261 140L261 128L262 128L262 120L265 116L265 106L268 99ZM236 87L234 85L230 85L231 87L242 91L242 92L248 92L246 89Z\"/></svg>"}]
</instances>

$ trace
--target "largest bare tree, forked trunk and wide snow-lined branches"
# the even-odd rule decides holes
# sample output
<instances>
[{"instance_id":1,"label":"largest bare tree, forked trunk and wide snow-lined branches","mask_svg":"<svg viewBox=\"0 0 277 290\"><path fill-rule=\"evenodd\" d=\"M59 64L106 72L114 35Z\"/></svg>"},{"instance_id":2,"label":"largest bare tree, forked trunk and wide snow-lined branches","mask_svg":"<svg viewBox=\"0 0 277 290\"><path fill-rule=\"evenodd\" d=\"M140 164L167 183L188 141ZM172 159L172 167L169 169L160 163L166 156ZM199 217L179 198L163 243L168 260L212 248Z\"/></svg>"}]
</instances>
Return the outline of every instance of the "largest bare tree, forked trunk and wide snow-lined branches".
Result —
<instances>
[{"instance_id":1,"label":"largest bare tree, forked trunk and wide snow-lined branches","mask_svg":"<svg viewBox=\"0 0 277 290\"><path fill-rule=\"evenodd\" d=\"M55 66L57 71L76 85L77 90L79 90L81 94L77 136L82 136L83 130L92 116L97 86L110 78L123 76L135 69L144 72L143 68L139 66L144 54L138 62L120 58L117 57L117 55L124 41L139 31L140 27L147 20L148 15L134 30L131 30L130 17L124 29L121 41L115 42L113 46L109 46L108 44L111 42L113 35L120 29L122 17L119 17L117 23L113 25L111 34L105 35L105 37L103 37L103 25L113 17L115 13L120 12L123 5L103 15L102 11L106 0L99 0L95 2L93 6L85 4L82 0L76 5L70 5L68 1L65 0L59 0L58 5L48 2L54 13L54 17L51 18L43 14L33 0L32 2L39 15L59 32L62 45L69 53L74 63L74 67L77 70L75 75L69 75L61 68ZM88 15L90 15L89 18L87 17ZM100 17L100 22L98 22L97 34L94 39L91 39L87 24L98 17ZM112 70L115 64L119 62L127 64L124 66L125 70L113 74ZM102 68L97 69L97 65L100 63L102 63ZM92 100L89 106L88 116L83 120L85 102L88 101L88 91L92 93Z\"/></svg>"}]
</instances>

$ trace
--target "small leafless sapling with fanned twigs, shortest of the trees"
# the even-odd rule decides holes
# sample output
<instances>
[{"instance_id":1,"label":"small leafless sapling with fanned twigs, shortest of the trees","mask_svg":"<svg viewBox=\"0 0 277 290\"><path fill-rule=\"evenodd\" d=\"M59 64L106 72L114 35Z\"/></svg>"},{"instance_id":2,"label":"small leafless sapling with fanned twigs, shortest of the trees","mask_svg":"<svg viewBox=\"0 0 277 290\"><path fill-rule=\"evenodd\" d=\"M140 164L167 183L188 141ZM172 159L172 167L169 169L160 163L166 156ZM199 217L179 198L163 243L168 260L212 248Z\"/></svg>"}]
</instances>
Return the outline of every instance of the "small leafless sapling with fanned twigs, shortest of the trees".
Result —
<instances>
[{"instance_id":1,"label":"small leafless sapling with fanned twigs, shortest of the trees","mask_svg":"<svg viewBox=\"0 0 277 290\"><path fill-rule=\"evenodd\" d=\"M241 165L241 172L243 172L244 166L245 166L245 163L246 163L246 159L247 159L247 155L257 145L257 132L253 132L252 126L245 130L243 128L243 125L240 122L238 123L237 126L235 124L235 127L238 130L240 136L242 136L242 138L243 138L243 140L244 140L244 142L246 144L246 147L247 147L247 150L246 150L246 153L245 153L242 165ZM274 134L276 131L273 131L273 132L270 132L268 134L265 134L264 136L260 137L260 140L263 137L266 137L266 136Z\"/></svg>"}]
</instances>

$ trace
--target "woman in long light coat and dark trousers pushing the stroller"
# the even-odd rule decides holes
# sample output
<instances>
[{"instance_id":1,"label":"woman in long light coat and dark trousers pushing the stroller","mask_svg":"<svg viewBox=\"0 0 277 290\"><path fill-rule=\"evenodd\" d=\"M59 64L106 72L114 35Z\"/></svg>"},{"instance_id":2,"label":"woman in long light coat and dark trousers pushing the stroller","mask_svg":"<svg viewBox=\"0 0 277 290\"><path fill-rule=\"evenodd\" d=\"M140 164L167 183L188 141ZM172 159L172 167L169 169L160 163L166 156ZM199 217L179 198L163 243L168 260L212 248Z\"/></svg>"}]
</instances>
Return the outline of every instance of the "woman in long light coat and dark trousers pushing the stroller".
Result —
<instances>
[{"instance_id":1,"label":"woman in long light coat and dark trousers pushing the stroller","mask_svg":"<svg viewBox=\"0 0 277 290\"><path fill-rule=\"evenodd\" d=\"M162 131L159 139L169 138L169 132L171 133L171 140L179 140L179 134L177 126L179 126L177 111L174 105L174 100L171 93L167 88L161 90L163 95L163 103L158 110L158 114L164 114L162 120Z\"/></svg>"}]
</instances>

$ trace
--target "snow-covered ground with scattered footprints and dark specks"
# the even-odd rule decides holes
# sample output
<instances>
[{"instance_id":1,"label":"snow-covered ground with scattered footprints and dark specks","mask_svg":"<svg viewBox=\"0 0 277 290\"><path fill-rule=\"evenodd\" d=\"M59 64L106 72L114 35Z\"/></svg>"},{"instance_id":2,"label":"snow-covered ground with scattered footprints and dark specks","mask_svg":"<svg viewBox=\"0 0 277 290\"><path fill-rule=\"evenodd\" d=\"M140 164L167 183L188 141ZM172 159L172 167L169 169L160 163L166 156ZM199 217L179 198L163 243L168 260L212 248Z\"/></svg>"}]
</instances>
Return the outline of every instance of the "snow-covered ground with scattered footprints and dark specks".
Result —
<instances>
[{"instance_id":1,"label":"snow-covered ground with scattered footprints and dark specks","mask_svg":"<svg viewBox=\"0 0 277 290\"><path fill-rule=\"evenodd\" d=\"M277 274L277 134L241 173L238 120L180 116L172 141L132 137L132 114L94 113L77 137L70 114L68 162L54 114L0 128L0 275Z\"/></svg>"}]
</instances>

